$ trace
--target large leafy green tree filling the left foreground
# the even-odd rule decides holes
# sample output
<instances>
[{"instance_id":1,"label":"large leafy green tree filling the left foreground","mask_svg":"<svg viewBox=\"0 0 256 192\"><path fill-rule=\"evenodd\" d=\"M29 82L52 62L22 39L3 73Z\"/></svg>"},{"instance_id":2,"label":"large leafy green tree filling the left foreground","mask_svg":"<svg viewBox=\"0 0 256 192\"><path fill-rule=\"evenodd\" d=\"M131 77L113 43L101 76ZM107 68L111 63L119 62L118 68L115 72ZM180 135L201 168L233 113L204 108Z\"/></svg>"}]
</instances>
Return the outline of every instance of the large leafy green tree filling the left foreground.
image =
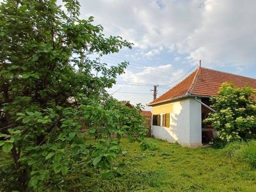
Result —
<instances>
[{"instance_id":1,"label":"large leafy green tree filling the left foreground","mask_svg":"<svg viewBox=\"0 0 256 192\"><path fill-rule=\"evenodd\" d=\"M86 150L79 118L98 140L90 155L102 169L120 150L121 134L142 141L147 130L140 105L127 108L105 90L128 63L108 67L89 58L132 44L120 36L104 38L93 17L79 19L78 1L63 3L66 11L56 0L6 0L0 6L0 146L13 157L18 183L13 190L36 189L51 170L68 172L66 150Z\"/></svg>"}]
</instances>

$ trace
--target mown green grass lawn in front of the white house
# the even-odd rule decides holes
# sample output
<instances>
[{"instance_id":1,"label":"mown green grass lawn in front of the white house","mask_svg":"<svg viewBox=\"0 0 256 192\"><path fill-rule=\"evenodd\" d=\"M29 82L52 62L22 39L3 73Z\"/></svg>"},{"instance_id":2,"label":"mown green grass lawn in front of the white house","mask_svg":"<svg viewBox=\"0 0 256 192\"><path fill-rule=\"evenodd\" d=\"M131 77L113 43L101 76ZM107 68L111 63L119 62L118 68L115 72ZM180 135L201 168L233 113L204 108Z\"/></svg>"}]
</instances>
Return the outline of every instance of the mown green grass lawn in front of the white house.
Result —
<instances>
[{"instance_id":1,"label":"mown green grass lawn in front of the white house","mask_svg":"<svg viewBox=\"0 0 256 192\"><path fill-rule=\"evenodd\" d=\"M186 148L147 138L154 150L122 139L123 154L113 166L118 173L102 180L83 164L63 181L65 191L256 191L255 169L230 159L221 149Z\"/></svg>"}]
</instances>

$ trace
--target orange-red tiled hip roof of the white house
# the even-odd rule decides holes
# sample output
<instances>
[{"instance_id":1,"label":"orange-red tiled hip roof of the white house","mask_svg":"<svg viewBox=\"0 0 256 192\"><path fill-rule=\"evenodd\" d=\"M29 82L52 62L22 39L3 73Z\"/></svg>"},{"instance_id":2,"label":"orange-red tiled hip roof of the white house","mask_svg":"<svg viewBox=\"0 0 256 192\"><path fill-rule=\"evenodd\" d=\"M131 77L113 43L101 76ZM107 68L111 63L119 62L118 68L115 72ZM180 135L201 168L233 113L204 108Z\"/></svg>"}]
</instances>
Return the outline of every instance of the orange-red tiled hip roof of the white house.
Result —
<instances>
[{"instance_id":1,"label":"orange-red tiled hip roof of the white house","mask_svg":"<svg viewBox=\"0 0 256 192\"><path fill-rule=\"evenodd\" d=\"M249 83L252 88L256 89L256 79L220 72L209 68L201 68L201 70L197 68L186 79L150 102L148 106L168 100L179 99L179 97L186 97L188 93L190 95L216 96L221 84L227 81L232 81L237 87L244 87L246 83Z\"/></svg>"}]
</instances>

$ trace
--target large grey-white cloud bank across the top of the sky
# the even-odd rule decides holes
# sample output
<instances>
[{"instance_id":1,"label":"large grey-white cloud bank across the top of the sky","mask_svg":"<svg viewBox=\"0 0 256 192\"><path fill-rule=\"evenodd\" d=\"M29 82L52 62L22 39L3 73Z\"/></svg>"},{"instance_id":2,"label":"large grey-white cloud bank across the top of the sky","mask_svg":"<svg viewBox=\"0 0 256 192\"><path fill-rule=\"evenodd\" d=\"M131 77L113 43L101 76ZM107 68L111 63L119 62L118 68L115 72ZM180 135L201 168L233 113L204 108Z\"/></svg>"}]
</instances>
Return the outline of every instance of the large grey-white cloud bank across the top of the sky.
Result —
<instances>
[{"instance_id":1,"label":"large grey-white cloud bank across the top of the sky","mask_svg":"<svg viewBox=\"0 0 256 192\"><path fill-rule=\"evenodd\" d=\"M134 42L145 57L169 49L210 67L256 60L254 0L85 0L81 5L82 17L93 15L104 33Z\"/></svg>"}]
</instances>

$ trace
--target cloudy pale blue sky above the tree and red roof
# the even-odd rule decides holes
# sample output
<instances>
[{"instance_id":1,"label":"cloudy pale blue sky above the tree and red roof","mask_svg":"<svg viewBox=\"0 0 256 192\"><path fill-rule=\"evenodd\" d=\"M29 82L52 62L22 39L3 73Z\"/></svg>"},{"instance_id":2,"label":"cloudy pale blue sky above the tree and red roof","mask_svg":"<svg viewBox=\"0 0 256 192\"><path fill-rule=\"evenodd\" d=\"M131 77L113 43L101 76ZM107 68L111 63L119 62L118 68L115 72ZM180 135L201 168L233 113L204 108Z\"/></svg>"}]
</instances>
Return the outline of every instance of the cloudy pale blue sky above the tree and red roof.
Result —
<instances>
[{"instance_id":1,"label":"cloudy pale blue sky above the tree and red roof","mask_svg":"<svg viewBox=\"0 0 256 192\"><path fill-rule=\"evenodd\" d=\"M80 0L81 19L94 17L108 37L132 50L103 56L108 65L129 61L109 93L146 106L198 67L256 78L255 0ZM91 58L96 56L91 56ZM150 107L145 107L151 110Z\"/></svg>"}]
</instances>

